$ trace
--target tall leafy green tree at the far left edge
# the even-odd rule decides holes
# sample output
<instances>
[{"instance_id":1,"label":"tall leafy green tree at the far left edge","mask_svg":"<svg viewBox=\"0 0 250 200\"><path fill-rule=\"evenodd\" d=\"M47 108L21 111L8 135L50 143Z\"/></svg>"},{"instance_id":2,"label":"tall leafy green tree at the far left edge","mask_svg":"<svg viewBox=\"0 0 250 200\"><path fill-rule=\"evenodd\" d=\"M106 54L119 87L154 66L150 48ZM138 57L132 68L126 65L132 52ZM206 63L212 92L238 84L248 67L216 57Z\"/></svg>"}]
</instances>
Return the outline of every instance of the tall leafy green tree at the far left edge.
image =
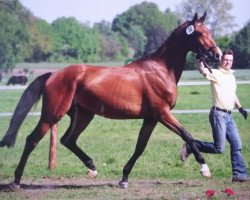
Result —
<instances>
[{"instance_id":1,"label":"tall leafy green tree at the far left edge","mask_svg":"<svg viewBox=\"0 0 250 200\"><path fill-rule=\"evenodd\" d=\"M18 0L0 1L0 70L9 71L29 53L30 13Z\"/></svg>"}]
</instances>

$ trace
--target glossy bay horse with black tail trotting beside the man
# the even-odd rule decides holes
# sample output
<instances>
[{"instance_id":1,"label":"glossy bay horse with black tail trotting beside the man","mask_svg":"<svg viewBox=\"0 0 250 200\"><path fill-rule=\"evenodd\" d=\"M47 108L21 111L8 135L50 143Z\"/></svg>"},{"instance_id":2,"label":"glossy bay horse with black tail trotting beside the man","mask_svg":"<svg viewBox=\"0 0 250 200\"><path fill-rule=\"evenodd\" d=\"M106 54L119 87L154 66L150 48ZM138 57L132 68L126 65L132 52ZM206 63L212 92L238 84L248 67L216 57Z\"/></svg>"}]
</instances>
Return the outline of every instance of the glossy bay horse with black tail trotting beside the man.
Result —
<instances>
[{"instance_id":1,"label":"glossy bay horse with black tail trotting beside the man","mask_svg":"<svg viewBox=\"0 0 250 200\"><path fill-rule=\"evenodd\" d=\"M70 125L60 141L83 162L92 178L97 175L94 162L76 141L95 114L111 119L144 119L134 153L123 168L119 182L121 188L128 187L128 176L158 122L191 146L201 165L201 174L211 176L194 138L171 113L187 53L192 51L214 61L220 60L221 50L203 24L205 18L206 13L201 18L196 13L191 21L177 27L153 54L123 67L75 64L37 77L23 92L9 129L0 142L1 147L14 146L24 118L42 96L40 120L26 138L10 187L20 186L29 155L49 129L66 114L70 117Z\"/></svg>"}]
</instances>

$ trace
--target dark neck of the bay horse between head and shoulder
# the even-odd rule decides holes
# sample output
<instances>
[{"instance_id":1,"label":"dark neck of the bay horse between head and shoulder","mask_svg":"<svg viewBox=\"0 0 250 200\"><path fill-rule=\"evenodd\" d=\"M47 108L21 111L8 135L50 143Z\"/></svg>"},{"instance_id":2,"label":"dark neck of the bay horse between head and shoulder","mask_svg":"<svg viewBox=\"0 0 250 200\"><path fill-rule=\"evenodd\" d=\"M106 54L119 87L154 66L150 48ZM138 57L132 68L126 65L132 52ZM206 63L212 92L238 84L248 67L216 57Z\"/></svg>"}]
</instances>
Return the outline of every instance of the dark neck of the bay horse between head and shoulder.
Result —
<instances>
[{"instance_id":1,"label":"dark neck of the bay horse between head and shoulder","mask_svg":"<svg viewBox=\"0 0 250 200\"><path fill-rule=\"evenodd\" d=\"M164 67L172 73L177 84L184 70L187 52L181 41L175 40L173 42L172 40L172 42L166 41L153 56L165 63Z\"/></svg>"}]
</instances>

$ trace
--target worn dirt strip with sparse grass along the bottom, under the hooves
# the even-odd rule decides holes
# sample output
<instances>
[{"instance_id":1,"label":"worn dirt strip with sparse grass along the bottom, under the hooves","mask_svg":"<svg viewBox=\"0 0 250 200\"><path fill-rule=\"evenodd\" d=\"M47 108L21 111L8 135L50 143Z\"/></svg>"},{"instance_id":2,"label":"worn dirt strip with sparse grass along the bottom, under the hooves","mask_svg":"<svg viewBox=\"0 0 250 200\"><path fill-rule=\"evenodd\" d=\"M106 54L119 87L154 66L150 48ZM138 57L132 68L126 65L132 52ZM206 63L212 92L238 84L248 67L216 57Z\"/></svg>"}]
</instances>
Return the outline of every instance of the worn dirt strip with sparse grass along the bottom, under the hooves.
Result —
<instances>
[{"instance_id":1,"label":"worn dirt strip with sparse grass along the bottom, under the hooves","mask_svg":"<svg viewBox=\"0 0 250 200\"><path fill-rule=\"evenodd\" d=\"M206 191L216 191L217 199L250 199L250 184L233 184L229 180L131 180L128 189L119 180L88 178L44 178L23 181L19 190L11 192L7 182L0 182L1 199L209 199ZM230 187L235 194L224 192Z\"/></svg>"}]
</instances>

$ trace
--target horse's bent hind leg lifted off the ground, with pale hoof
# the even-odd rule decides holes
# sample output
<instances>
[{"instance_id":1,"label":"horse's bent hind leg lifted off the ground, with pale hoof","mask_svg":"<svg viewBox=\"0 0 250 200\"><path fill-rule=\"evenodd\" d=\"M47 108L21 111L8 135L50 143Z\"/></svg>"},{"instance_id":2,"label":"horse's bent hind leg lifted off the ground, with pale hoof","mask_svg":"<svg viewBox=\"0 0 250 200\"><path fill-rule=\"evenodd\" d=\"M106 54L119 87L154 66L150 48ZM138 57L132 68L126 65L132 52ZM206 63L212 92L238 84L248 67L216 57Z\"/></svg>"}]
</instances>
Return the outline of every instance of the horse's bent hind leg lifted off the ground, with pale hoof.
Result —
<instances>
[{"instance_id":1,"label":"horse's bent hind leg lifted off the ground, with pale hoof","mask_svg":"<svg viewBox=\"0 0 250 200\"><path fill-rule=\"evenodd\" d=\"M88 175L92 178L96 176L96 167L93 160L85 154L76 144L79 135L85 130L94 117L93 113L78 106L72 106L69 116L70 126L61 138L61 143L71 150L89 168Z\"/></svg>"}]
</instances>

